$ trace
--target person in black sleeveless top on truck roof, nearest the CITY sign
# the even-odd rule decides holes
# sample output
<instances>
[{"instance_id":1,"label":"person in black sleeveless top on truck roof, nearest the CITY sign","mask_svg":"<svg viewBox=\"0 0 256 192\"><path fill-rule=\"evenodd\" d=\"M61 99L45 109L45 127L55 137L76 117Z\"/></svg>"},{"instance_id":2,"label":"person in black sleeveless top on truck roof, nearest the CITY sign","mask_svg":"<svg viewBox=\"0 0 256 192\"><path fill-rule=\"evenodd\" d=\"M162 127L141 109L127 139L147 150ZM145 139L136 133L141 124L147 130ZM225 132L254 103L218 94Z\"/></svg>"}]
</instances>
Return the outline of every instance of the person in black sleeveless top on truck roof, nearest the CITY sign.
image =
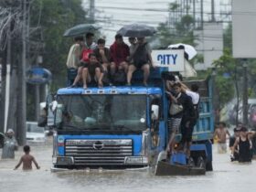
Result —
<instances>
[{"instance_id":1,"label":"person in black sleeveless top on truck roof, nearest the CITY sign","mask_svg":"<svg viewBox=\"0 0 256 192\"><path fill-rule=\"evenodd\" d=\"M144 86L147 86L147 79L150 73L150 66L153 66L151 57L151 48L145 42L144 37L137 37L137 44L133 53L130 56L130 65L127 73L127 85L131 85L133 72L136 69L143 69L144 71Z\"/></svg>"}]
</instances>

